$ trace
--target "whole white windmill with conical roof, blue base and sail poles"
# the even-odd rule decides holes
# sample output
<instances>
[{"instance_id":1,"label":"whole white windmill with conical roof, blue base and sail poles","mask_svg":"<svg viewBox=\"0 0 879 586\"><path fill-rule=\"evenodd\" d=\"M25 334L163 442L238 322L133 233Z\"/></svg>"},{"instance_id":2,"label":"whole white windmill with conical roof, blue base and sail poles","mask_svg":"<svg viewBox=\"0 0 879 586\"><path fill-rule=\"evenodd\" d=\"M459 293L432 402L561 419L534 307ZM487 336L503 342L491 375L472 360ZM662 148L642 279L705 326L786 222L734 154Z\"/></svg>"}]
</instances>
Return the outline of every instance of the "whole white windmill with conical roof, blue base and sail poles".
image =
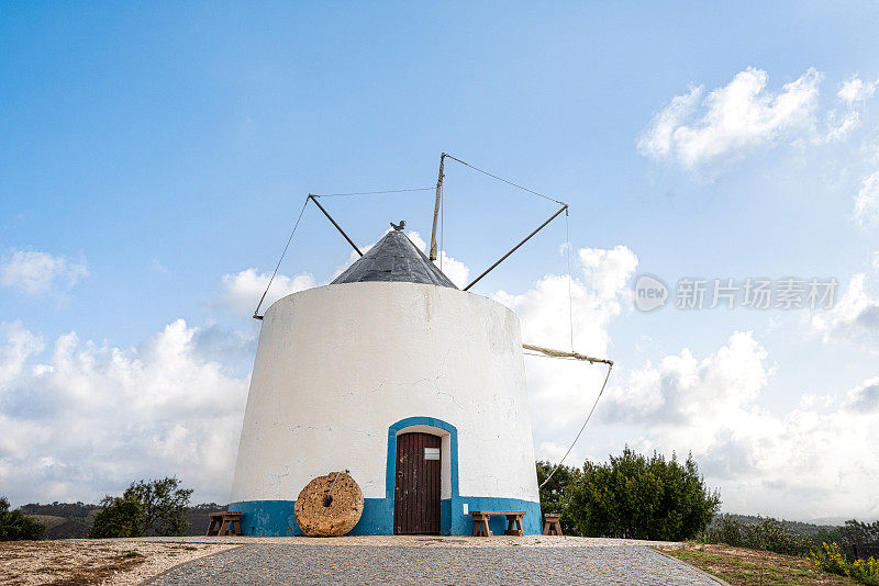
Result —
<instances>
[{"instance_id":1,"label":"whole white windmill with conical roof, blue base and sail poles","mask_svg":"<svg viewBox=\"0 0 879 586\"><path fill-rule=\"evenodd\" d=\"M541 532L519 318L456 288L401 229L266 311L230 510L245 534L300 534L299 492L346 469L364 496L353 534L469 534L470 510L525 511Z\"/></svg>"}]
</instances>

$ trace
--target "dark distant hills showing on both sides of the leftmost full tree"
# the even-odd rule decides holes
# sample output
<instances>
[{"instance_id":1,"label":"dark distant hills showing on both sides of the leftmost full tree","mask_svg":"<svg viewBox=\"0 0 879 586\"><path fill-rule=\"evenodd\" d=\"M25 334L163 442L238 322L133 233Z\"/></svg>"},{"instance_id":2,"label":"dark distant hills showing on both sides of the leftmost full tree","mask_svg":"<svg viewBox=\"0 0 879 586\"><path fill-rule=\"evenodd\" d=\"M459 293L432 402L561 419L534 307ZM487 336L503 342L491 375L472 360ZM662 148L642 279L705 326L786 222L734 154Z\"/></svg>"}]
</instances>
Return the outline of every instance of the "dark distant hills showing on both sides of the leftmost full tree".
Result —
<instances>
[{"instance_id":1,"label":"dark distant hills showing on both sides of the leftmost full tree","mask_svg":"<svg viewBox=\"0 0 879 586\"><path fill-rule=\"evenodd\" d=\"M189 507L190 536L203 536L208 531L208 514L226 510L225 505L204 503ZM88 537L101 507L87 503L32 503L21 507L22 512L46 526L46 539L75 539Z\"/></svg>"}]
</instances>

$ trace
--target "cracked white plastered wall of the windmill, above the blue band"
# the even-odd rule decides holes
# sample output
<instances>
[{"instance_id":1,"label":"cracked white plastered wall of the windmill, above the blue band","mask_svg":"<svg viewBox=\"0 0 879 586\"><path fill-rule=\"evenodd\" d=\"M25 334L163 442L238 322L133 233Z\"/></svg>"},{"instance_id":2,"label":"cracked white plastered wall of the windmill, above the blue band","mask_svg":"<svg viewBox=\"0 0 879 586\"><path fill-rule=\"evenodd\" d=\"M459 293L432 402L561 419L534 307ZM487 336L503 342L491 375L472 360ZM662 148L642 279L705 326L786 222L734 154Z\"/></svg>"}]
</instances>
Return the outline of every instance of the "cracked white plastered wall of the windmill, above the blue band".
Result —
<instances>
[{"instance_id":1,"label":"cracked white plastered wall of the windmill, above the blue band","mask_svg":"<svg viewBox=\"0 0 879 586\"><path fill-rule=\"evenodd\" d=\"M366 498L383 498L388 428L416 416L457 428L461 496L538 500L510 309L399 282L283 297L263 320L232 502L292 500L314 476L344 469Z\"/></svg>"}]
</instances>

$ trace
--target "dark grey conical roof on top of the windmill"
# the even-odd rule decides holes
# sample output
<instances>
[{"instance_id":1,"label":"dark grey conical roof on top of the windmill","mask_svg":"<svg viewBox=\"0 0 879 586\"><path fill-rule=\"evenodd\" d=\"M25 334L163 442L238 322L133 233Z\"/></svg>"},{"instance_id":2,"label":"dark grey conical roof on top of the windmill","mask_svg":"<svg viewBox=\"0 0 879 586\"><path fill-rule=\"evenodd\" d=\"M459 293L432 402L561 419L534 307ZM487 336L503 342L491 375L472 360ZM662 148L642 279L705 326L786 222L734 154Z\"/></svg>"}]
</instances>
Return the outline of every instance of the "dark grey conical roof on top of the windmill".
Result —
<instances>
[{"instance_id":1,"label":"dark grey conical roof on top of the windmill","mask_svg":"<svg viewBox=\"0 0 879 586\"><path fill-rule=\"evenodd\" d=\"M401 281L457 289L401 230L391 230L330 284Z\"/></svg>"}]
</instances>

